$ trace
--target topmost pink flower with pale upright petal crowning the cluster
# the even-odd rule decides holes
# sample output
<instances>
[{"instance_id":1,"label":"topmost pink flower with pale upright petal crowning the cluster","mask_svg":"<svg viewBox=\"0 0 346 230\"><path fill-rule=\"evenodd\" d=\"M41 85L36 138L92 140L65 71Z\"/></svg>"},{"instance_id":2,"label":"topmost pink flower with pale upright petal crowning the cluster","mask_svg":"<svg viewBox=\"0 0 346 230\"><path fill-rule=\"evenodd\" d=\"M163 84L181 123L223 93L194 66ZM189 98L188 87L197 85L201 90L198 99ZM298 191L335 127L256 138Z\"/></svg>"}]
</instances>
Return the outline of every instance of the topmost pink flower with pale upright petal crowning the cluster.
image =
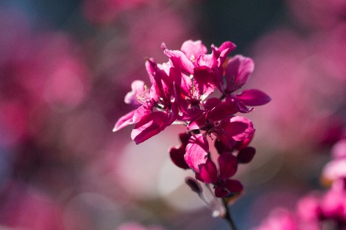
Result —
<instances>
[{"instance_id":1,"label":"topmost pink flower with pale upright petal crowning the cluster","mask_svg":"<svg viewBox=\"0 0 346 230\"><path fill-rule=\"evenodd\" d=\"M201 102L214 92L218 76L223 73L222 64L235 45L228 41L219 49L212 46L210 55L201 41L185 41L181 50L168 50L164 44L162 48L177 69L176 100L183 112L181 119L199 117L203 113Z\"/></svg>"}]
</instances>

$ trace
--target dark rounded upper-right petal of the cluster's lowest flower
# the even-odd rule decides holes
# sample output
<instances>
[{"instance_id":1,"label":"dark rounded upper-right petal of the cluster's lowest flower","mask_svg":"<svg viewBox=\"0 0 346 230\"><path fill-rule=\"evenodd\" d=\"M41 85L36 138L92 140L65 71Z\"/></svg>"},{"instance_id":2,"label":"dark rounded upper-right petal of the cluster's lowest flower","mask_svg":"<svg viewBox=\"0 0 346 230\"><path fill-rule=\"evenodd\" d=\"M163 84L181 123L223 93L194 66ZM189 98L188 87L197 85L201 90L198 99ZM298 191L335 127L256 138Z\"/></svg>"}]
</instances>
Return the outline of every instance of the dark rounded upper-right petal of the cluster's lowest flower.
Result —
<instances>
[{"instance_id":1,"label":"dark rounded upper-right petal of the cluster's lowest flower","mask_svg":"<svg viewBox=\"0 0 346 230\"><path fill-rule=\"evenodd\" d=\"M237 157L232 155L232 153L222 153L217 159L219 162L219 178L228 179L235 175L237 171L238 161Z\"/></svg>"}]
</instances>

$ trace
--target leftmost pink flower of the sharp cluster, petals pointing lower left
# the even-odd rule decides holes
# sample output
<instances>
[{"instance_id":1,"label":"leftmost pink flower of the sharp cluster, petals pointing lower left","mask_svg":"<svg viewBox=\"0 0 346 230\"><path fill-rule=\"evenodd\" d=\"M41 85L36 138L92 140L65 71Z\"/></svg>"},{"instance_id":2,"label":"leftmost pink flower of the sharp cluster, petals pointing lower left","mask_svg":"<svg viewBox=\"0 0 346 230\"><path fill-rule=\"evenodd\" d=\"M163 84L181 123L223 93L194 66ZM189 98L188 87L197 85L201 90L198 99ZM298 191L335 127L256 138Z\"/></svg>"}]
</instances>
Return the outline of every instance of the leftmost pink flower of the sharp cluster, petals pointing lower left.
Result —
<instances>
[{"instance_id":1,"label":"leftmost pink flower of the sharp cluster, petals pointing lower left","mask_svg":"<svg viewBox=\"0 0 346 230\"><path fill-rule=\"evenodd\" d=\"M163 131L174 122L178 115L176 104L171 102L174 93L172 79L165 70L158 67L153 59L147 60L146 66L152 87L147 90L141 81L132 83L132 91L127 93L125 102L142 105L120 117L113 128L113 131L118 131L129 124L136 124L131 133L131 138L136 144Z\"/></svg>"}]
</instances>

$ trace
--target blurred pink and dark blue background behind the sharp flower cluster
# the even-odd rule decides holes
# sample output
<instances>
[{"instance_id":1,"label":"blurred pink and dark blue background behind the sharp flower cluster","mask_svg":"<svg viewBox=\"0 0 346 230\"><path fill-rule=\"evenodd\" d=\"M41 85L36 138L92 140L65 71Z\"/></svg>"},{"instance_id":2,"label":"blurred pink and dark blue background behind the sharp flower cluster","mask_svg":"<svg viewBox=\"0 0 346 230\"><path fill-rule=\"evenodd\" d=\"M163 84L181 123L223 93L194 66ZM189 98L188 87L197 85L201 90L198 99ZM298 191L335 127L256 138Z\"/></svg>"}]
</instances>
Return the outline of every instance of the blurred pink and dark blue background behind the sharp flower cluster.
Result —
<instances>
[{"instance_id":1,"label":"blurred pink and dark blue background behind the sharp flower cluster","mask_svg":"<svg viewBox=\"0 0 346 230\"><path fill-rule=\"evenodd\" d=\"M2 0L0 29L0 229L227 229L170 162L181 127L138 146L112 133L162 42L233 41L255 61L246 88L272 97L245 115L257 153L237 172L239 229L321 189L345 137L343 0Z\"/></svg>"}]
</instances>

